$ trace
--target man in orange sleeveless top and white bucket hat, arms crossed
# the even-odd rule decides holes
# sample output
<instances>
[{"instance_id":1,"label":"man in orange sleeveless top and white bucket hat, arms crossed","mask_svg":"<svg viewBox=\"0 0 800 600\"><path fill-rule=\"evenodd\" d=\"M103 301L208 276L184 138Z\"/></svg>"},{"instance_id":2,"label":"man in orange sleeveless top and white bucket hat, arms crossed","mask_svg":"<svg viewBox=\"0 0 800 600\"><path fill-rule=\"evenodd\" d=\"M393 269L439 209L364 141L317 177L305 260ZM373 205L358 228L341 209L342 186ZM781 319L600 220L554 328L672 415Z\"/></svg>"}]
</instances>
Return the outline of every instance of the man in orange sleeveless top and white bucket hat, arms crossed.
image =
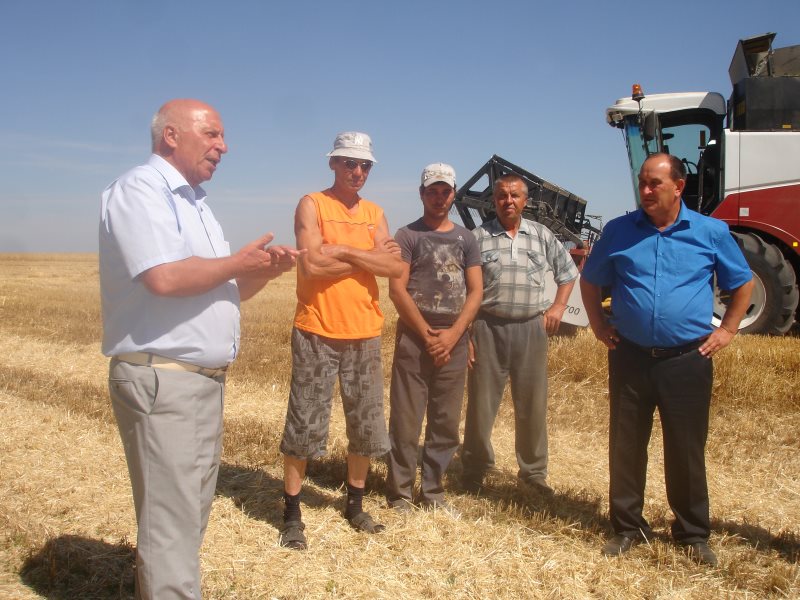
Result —
<instances>
[{"instance_id":1,"label":"man in orange sleeveless top and white bucket hat, arms crossed","mask_svg":"<svg viewBox=\"0 0 800 600\"><path fill-rule=\"evenodd\" d=\"M348 438L345 517L358 531L383 529L362 508L370 458L389 450L375 277L397 277L403 262L383 211L359 195L375 163L369 136L340 133L328 156L333 185L303 196L295 212L297 247L306 252L298 258L292 383L281 441L286 506L280 543L297 550L306 548L300 490L308 459L326 453L337 378Z\"/></svg>"}]
</instances>

